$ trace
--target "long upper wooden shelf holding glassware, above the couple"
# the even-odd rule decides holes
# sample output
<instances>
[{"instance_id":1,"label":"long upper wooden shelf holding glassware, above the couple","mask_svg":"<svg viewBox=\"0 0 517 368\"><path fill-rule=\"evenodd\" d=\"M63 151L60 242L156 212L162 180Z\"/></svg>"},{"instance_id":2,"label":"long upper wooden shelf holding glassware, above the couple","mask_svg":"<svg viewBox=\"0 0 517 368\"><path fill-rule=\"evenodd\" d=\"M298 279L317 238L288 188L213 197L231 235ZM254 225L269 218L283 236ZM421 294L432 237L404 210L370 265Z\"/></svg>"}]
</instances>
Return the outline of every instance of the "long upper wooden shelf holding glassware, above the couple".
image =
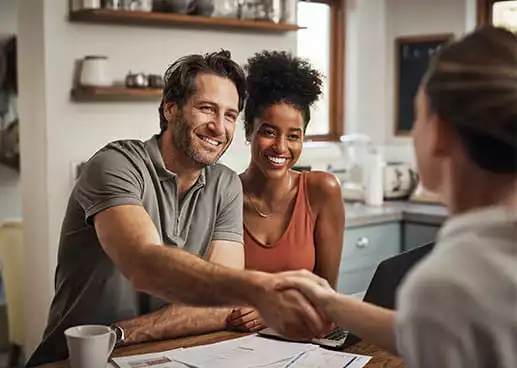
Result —
<instances>
[{"instance_id":1,"label":"long upper wooden shelf holding glassware, above the couple","mask_svg":"<svg viewBox=\"0 0 517 368\"><path fill-rule=\"evenodd\" d=\"M165 27L233 28L278 33L297 31L303 28L295 24L273 23L260 20L214 18L177 13L154 13L111 9L72 11L70 12L70 21Z\"/></svg>"}]
</instances>

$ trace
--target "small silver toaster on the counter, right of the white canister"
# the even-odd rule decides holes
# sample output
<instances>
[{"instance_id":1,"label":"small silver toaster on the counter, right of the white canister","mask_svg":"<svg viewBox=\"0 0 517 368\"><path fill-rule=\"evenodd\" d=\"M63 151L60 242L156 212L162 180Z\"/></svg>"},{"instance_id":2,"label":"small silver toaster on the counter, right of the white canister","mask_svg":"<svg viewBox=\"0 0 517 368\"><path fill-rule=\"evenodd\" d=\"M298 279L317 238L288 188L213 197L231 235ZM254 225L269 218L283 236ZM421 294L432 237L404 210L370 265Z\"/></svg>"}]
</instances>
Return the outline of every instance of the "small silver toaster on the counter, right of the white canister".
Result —
<instances>
[{"instance_id":1,"label":"small silver toaster on the counter, right of the white canister","mask_svg":"<svg viewBox=\"0 0 517 368\"><path fill-rule=\"evenodd\" d=\"M384 199L407 199L418 184L416 171L402 162L388 162L383 179Z\"/></svg>"}]
</instances>

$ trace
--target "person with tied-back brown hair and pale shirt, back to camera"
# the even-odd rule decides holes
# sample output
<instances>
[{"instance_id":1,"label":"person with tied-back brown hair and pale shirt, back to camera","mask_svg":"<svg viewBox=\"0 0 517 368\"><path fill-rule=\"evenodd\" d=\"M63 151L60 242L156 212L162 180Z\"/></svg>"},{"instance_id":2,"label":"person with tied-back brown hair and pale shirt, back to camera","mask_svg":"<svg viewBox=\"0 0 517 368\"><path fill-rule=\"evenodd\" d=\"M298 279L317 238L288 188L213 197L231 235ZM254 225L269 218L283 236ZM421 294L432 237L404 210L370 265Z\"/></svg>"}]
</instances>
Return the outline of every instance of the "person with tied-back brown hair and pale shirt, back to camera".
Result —
<instances>
[{"instance_id":1,"label":"person with tied-back brown hair and pale shirt, back to camera","mask_svg":"<svg viewBox=\"0 0 517 368\"><path fill-rule=\"evenodd\" d=\"M517 367L517 37L487 26L444 47L415 97L423 185L450 218L389 311L293 272L320 312L405 367Z\"/></svg>"}]
</instances>

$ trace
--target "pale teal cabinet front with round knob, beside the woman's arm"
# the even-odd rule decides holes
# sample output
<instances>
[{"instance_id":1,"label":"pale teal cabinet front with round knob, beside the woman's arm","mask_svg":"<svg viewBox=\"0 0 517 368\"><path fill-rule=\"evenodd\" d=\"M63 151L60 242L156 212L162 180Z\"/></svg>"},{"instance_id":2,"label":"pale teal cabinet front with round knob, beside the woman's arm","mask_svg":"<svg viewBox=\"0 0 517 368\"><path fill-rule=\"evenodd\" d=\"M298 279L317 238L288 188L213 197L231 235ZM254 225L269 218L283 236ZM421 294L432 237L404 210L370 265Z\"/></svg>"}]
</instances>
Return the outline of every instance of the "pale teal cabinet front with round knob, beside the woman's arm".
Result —
<instances>
[{"instance_id":1,"label":"pale teal cabinet front with round knob, beside the woman's arm","mask_svg":"<svg viewBox=\"0 0 517 368\"><path fill-rule=\"evenodd\" d=\"M400 253L401 222L345 229L338 291L355 294L365 291L377 265Z\"/></svg>"}]
</instances>

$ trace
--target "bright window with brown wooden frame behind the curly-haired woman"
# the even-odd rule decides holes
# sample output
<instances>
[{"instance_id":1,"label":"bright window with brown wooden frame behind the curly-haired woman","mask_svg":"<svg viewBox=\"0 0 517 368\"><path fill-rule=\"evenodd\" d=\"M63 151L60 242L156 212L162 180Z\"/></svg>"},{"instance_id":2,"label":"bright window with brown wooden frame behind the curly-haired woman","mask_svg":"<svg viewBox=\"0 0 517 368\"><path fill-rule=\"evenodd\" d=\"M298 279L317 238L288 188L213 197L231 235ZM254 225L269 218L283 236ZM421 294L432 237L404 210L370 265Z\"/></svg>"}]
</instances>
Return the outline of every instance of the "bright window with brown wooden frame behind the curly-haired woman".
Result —
<instances>
[{"instance_id":1,"label":"bright window with brown wooden frame behind the curly-haired woman","mask_svg":"<svg viewBox=\"0 0 517 368\"><path fill-rule=\"evenodd\" d=\"M298 56L324 75L323 95L313 106L307 140L337 140L343 134L344 11L343 0L298 3Z\"/></svg>"}]
</instances>

